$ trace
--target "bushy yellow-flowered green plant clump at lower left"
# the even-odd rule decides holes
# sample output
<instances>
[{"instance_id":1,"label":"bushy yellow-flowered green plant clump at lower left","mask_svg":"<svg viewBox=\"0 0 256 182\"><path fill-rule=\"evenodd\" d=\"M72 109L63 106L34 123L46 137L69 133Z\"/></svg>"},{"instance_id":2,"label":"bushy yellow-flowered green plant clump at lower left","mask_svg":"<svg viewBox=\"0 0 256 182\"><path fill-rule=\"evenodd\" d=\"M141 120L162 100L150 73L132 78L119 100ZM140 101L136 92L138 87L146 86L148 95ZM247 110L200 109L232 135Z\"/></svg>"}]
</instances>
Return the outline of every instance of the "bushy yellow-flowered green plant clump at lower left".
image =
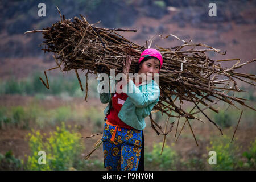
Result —
<instances>
[{"instance_id":1,"label":"bushy yellow-flowered green plant clump at lower left","mask_svg":"<svg viewBox=\"0 0 256 182\"><path fill-rule=\"evenodd\" d=\"M27 135L31 155L27 158L28 170L71 170L82 169L81 151L84 145L81 142L81 134L68 131L64 122L56 131L49 134L41 134L39 131ZM38 152L46 152L46 164L38 163Z\"/></svg>"}]
</instances>

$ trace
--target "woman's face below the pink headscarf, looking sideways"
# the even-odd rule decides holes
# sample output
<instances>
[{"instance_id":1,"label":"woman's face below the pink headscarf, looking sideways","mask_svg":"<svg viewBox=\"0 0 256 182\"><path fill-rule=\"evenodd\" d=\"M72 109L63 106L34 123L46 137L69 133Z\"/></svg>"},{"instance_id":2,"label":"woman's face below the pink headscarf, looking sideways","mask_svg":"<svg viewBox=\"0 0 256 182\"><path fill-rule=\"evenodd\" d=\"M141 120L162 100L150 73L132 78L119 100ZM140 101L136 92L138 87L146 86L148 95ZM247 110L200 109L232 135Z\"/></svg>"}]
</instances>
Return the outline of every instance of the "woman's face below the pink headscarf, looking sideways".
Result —
<instances>
[{"instance_id":1,"label":"woman's face below the pink headscarf, looking sideways","mask_svg":"<svg viewBox=\"0 0 256 182\"><path fill-rule=\"evenodd\" d=\"M160 61L158 59L150 58L147 61L144 61L141 65L139 65L138 74L158 73L159 68L160 68Z\"/></svg>"}]
</instances>

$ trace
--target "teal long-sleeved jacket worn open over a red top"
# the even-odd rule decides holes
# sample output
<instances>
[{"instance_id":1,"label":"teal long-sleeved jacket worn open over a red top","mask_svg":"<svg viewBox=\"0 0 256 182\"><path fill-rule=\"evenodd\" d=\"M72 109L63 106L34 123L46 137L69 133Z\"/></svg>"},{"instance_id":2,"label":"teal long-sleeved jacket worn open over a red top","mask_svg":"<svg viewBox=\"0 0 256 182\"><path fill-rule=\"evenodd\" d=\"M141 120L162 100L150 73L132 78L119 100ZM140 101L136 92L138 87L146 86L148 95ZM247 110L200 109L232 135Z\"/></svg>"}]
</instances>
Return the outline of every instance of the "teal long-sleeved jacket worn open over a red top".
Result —
<instances>
[{"instance_id":1,"label":"teal long-sleeved jacket worn open over a red top","mask_svg":"<svg viewBox=\"0 0 256 182\"><path fill-rule=\"evenodd\" d=\"M129 93L129 89L133 92ZM122 90L127 90L128 97L119 111L118 117L134 129L143 130L146 127L145 118L150 115L154 105L159 101L160 89L158 84L151 80L135 86L134 82L130 80ZM104 110L105 115L109 111L110 99L111 93L100 93L101 103L109 103Z\"/></svg>"}]
</instances>

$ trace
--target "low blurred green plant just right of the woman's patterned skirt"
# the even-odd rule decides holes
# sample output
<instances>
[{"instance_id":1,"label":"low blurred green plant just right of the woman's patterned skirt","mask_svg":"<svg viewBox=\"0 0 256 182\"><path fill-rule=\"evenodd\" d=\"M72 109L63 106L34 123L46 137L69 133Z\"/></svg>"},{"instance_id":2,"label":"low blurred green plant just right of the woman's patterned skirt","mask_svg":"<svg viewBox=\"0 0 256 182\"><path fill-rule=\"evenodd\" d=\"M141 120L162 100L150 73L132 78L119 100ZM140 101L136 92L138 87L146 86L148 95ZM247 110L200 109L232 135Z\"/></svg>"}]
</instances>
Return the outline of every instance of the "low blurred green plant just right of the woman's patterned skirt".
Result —
<instances>
[{"instance_id":1,"label":"low blurred green plant just right of the woman's patterned skirt","mask_svg":"<svg viewBox=\"0 0 256 182\"><path fill-rule=\"evenodd\" d=\"M175 150L172 150L167 144L164 145L162 155L162 143L154 144L151 152L145 152L145 166L150 169L158 170L176 170L179 162L179 155Z\"/></svg>"}]
</instances>

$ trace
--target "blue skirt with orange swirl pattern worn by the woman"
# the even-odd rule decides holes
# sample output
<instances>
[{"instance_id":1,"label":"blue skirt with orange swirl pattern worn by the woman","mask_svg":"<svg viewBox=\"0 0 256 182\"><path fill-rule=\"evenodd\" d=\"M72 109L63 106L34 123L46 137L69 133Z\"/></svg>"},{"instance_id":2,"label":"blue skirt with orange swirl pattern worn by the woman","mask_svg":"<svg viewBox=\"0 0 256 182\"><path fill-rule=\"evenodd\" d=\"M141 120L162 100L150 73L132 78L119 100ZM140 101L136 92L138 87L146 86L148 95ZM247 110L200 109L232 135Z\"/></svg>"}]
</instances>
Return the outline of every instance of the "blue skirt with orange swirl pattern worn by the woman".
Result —
<instances>
[{"instance_id":1,"label":"blue skirt with orange swirl pattern worn by the woman","mask_svg":"<svg viewBox=\"0 0 256 182\"><path fill-rule=\"evenodd\" d=\"M101 139L106 169L137 171L142 151L142 131L116 127L105 123Z\"/></svg>"}]
</instances>

